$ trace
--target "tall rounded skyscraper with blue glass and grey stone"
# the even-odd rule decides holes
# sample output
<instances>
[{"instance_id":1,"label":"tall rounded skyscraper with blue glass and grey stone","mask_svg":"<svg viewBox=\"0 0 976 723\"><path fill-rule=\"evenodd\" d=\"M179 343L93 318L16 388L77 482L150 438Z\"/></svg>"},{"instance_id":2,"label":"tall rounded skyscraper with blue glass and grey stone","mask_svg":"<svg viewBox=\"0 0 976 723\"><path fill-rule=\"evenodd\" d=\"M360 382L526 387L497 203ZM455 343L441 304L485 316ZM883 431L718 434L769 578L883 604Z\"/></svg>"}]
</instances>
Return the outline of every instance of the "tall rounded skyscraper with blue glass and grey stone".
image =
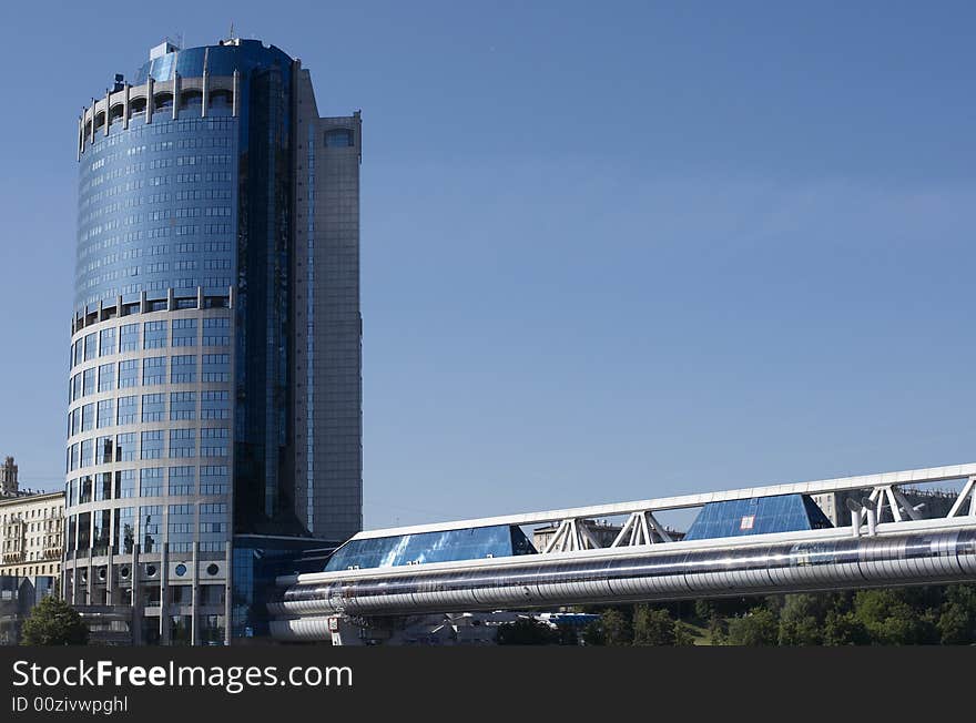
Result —
<instances>
[{"instance_id":1,"label":"tall rounded skyscraper with blue glass and grey stone","mask_svg":"<svg viewBox=\"0 0 976 723\"><path fill-rule=\"evenodd\" d=\"M62 590L105 629L260 634L268 561L360 529L360 152L257 40L83 110Z\"/></svg>"}]
</instances>

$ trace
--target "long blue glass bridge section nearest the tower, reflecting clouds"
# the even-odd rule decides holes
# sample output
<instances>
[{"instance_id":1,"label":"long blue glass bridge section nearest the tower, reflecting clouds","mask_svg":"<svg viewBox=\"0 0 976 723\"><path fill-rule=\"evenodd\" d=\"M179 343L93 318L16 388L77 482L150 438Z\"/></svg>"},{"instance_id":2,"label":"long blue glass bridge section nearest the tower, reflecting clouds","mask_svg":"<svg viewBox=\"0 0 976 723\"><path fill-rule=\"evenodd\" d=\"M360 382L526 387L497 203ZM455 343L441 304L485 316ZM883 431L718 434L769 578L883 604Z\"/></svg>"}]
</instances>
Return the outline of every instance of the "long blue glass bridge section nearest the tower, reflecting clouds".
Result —
<instances>
[{"instance_id":1,"label":"long blue glass bridge section nearest the tower, reflecting clouds","mask_svg":"<svg viewBox=\"0 0 976 723\"><path fill-rule=\"evenodd\" d=\"M421 562L450 562L535 553L536 548L520 528L496 525L349 540L329 558L325 570L331 572L349 568L394 568Z\"/></svg>"}]
</instances>

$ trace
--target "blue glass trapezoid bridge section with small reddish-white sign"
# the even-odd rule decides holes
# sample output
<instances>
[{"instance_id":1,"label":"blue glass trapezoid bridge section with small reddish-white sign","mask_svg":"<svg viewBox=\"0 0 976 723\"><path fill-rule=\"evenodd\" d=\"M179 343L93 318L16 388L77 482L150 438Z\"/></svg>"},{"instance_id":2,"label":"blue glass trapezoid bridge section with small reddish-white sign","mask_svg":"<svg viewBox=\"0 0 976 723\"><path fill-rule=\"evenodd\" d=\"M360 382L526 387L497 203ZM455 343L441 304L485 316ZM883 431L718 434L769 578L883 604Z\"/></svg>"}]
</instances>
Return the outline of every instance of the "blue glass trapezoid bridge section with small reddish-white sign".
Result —
<instances>
[{"instance_id":1,"label":"blue glass trapezoid bridge section with small reddish-white sign","mask_svg":"<svg viewBox=\"0 0 976 723\"><path fill-rule=\"evenodd\" d=\"M709 502L688 529L685 540L743 534L820 530L833 527L807 495L780 495Z\"/></svg>"}]
</instances>

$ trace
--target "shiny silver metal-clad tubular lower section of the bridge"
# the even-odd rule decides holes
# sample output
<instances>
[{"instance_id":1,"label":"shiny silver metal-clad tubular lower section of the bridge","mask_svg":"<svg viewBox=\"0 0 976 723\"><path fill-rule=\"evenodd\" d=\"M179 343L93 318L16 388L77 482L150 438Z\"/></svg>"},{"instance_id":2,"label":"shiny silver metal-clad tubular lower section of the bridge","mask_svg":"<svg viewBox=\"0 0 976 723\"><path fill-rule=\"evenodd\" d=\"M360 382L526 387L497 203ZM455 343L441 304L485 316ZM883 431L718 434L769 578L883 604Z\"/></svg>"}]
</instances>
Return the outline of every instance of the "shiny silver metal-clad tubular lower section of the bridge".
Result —
<instances>
[{"instance_id":1,"label":"shiny silver metal-clad tubular lower section of the bridge","mask_svg":"<svg viewBox=\"0 0 976 723\"><path fill-rule=\"evenodd\" d=\"M670 546L668 546L670 547ZM501 562L496 561L496 562ZM506 564L316 581L303 576L270 605L278 638L301 638L305 617L394 615L598 602L843 590L976 577L976 530L636 550L589 559L532 556ZM375 573L375 571L374 571Z\"/></svg>"}]
</instances>

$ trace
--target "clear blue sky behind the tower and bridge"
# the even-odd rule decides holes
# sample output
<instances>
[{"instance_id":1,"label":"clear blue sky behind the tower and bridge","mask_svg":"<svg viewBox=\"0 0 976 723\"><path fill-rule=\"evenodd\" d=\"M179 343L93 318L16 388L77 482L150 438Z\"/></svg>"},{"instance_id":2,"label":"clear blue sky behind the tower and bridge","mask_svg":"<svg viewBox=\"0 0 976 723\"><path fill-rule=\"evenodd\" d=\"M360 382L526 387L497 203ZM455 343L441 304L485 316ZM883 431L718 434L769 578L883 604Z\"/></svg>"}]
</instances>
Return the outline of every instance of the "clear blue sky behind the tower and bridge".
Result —
<instances>
[{"instance_id":1,"label":"clear blue sky behind the tower and bridge","mask_svg":"<svg viewBox=\"0 0 976 723\"><path fill-rule=\"evenodd\" d=\"M63 480L79 110L231 20L363 109L367 527L976 460L972 2L13 8L28 485Z\"/></svg>"}]
</instances>

